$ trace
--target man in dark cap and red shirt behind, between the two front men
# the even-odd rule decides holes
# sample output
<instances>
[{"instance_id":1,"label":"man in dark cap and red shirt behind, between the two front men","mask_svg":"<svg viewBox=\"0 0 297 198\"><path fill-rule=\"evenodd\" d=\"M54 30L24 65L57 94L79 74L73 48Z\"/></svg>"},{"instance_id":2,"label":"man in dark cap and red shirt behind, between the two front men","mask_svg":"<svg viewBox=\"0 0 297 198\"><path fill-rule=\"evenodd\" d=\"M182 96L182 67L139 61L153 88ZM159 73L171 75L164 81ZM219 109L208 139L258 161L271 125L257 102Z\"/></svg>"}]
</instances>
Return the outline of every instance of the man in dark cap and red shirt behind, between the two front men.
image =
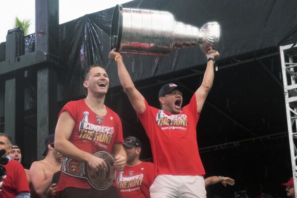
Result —
<instances>
[{"instance_id":1,"label":"man in dark cap and red shirt behind, between the two front men","mask_svg":"<svg viewBox=\"0 0 297 198\"><path fill-rule=\"evenodd\" d=\"M127 154L126 166L117 171L115 186L121 198L150 198L150 186L154 182L154 164L142 162L139 156L142 149L140 140L129 136L124 140Z\"/></svg>"}]
</instances>

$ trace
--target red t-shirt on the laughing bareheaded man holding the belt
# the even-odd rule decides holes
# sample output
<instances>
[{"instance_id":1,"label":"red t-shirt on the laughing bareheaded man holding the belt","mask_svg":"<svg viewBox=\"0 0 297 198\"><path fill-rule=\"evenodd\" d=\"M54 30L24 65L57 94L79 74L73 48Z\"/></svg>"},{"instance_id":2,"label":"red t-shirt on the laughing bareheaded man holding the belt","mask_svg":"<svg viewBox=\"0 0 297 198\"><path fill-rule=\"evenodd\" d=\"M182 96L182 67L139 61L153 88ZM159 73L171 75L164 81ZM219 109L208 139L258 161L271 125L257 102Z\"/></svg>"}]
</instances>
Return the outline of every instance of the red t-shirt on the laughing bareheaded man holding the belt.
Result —
<instances>
[{"instance_id":1,"label":"red t-shirt on the laughing bareheaded man holding the belt","mask_svg":"<svg viewBox=\"0 0 297 198\"><path fill-rule=\"evenodd\" d=\"M119 115L106 107L105 116L97 116L85 103L85 100L68 102L59 113L67 111L75 127L69 141L79 149L94 154L98 151L112 152L114 143L122 143L122 128ZM91 185L86 179L75 178L61 173L58 191L66 187L90 189Z\"/></svg>"}]
</instances>

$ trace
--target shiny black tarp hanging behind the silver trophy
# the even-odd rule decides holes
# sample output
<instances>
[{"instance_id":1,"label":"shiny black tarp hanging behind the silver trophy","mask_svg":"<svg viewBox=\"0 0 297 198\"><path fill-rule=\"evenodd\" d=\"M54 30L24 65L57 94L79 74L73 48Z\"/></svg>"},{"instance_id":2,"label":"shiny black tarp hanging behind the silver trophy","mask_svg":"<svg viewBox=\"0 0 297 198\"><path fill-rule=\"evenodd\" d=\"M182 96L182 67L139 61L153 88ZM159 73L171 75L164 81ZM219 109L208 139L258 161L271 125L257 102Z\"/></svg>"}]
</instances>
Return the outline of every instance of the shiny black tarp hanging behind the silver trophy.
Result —
<instances>
[{"instance_id":1,"label":"shiny black tarp hanging behind the silver trophy","mask_svg":"<svg viewBox=\"0 0 297 198\"><path fill-rule=\"evenodd\" d=\"M286 3L282 0L134 0L123 7L169 11L176 21L198 28L217 21L221 25L222 62L236 56L260 56L267 50L277 51L280 44L297 40L294 0ZM69 69L60 73L59 100L81 94L77 86L81 85L82 71L89 65L108 66L111 87L119 85L117 69L108 59L112 12L110 8L60 25L60 57ZM131 72L133 81L193 68L206 61L198 47L173 50L168 57L123 55L123 58L129 71L132 65L136 68Z\"/></svg>"}]
</instances>

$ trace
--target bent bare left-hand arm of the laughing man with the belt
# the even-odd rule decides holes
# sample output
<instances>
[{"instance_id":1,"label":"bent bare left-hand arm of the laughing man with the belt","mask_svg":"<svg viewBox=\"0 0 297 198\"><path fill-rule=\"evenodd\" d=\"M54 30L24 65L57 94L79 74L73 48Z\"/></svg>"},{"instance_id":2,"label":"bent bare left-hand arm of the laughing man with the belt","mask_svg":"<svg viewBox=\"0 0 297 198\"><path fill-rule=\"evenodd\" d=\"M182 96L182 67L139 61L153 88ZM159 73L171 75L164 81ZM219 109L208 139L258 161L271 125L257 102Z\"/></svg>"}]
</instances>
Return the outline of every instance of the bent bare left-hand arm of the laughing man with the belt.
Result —
<instances>
[{"instance_id":1,"label":"bent bare left-hand arm of the laughing man with the belt","mask_svg":"<svg viewBox=\"0 0 297 198\"><path fill-rule=\"evenodd\" d=\"M66 111L62 112L55 132L55 149L65 157L87 162L91 168L97 171L104 168L108 169L104 160L80 150L69 141L74 126L75 122L72 120L69 113Z\"/></svg>"}]
</instances>

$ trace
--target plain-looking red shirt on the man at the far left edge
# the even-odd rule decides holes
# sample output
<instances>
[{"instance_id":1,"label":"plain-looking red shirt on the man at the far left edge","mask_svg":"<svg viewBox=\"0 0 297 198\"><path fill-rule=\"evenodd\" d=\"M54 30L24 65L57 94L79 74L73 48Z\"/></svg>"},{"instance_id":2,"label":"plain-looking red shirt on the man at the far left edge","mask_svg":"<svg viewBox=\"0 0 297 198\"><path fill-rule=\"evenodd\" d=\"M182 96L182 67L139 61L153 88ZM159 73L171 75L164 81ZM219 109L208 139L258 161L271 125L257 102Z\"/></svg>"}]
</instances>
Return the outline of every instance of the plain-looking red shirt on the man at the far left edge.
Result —
<instances>
[{"instance_id":1,"label":"plain-looking red shirt on the man at the far left edge","mask_svg":"<svg viewBox=\"0 0 297 198\"><path fill-rule=\"evenodd\" d=\"M6 169L6 176L3 179L0 198L15 198L20 192L30 192L25 169L20 163L10 160L2 166Z\"/></svg>"}]
</instances>

